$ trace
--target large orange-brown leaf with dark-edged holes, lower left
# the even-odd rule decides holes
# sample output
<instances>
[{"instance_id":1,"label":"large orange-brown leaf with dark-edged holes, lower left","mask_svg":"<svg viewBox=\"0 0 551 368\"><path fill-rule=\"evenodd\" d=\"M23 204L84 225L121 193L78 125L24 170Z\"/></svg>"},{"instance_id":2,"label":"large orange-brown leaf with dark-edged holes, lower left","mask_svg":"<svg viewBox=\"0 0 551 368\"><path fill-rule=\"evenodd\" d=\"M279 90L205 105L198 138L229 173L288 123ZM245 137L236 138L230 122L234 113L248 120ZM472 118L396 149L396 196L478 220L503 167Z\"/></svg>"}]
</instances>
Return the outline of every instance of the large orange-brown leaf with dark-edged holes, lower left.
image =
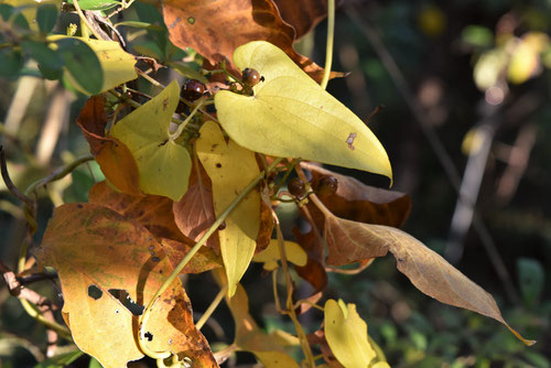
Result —
<instances>
[{"instance_id":1,"label":"large orange-brown leaf with dark-edged holes, lower left","mask_svg":"<svg viewBox=\"0 0 551 368\"><path fill-rule=\"evenodd\" d=\"M104 367L126 367L140 359L138 313L117 294L128 293L136 307L147 304L173 271L153 235L136 220L93 204L55 209L36 256L60 275L73 338ZM90 288L96 294L90 293ZM115 293L117 292L117 293ZM98 295L99 293L99 295ZM147 346L192 358L194 367L218 367L205 337L193 323L190 300L179 279L151 311Z\"/></svg>"}]
</instances>

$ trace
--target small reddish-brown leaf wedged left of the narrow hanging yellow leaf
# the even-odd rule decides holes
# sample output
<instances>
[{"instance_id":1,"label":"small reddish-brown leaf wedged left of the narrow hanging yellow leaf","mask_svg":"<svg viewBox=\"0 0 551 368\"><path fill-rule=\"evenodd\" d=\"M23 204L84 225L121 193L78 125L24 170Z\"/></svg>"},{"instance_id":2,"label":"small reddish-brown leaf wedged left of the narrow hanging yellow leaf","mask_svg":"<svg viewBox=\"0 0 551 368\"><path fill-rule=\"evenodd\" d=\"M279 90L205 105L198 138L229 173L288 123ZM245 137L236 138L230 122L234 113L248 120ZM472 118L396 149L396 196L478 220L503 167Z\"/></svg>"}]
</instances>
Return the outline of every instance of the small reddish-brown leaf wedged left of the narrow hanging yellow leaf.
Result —
<instances>
[{"instance_id":1,"label":"small reddish-brown leaf wedged left of the narrow hanging yellow leaf","mask_svg":"<svg viewBox=\"0 0 551 368\"><path fill-rule=\"evenodd\" d=\"M198 241L216 220L213 184L196 154L193 158L187 192L174 203L172 209L179 229L194 241ZM208 238L206 245L216 251L220 249L219 238L215 235Z\"/></svg>"}]
</instances>

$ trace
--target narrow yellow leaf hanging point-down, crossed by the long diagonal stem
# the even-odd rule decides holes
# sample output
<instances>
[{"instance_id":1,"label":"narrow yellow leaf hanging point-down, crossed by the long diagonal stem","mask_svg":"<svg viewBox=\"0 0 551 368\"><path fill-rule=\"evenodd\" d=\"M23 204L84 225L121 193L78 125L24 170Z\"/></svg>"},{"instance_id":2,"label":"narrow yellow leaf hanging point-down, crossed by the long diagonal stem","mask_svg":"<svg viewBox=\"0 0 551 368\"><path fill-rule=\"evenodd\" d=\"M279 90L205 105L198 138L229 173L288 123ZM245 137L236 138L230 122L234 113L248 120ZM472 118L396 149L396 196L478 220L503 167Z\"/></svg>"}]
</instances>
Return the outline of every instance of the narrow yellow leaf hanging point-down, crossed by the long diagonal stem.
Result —
<instances>
[{"instance_id":1,"label":"narrow yellow leaf hanging point-down, crossed by the long diagonal stem","mask_svg":"<svg viewBox=\"0 0 551 368\"><path fill-rule=\"evenodd\" d=\"M213 182L214 210L218 217L259 174L255 152L226 143L220 128L207 121L201 128L196 142L197 155ZM251 191L226 217L225 227L218 230L220 253L228 279L228 294L249 267L260 229L260 193Z\"/></svg>"}]
</instances>

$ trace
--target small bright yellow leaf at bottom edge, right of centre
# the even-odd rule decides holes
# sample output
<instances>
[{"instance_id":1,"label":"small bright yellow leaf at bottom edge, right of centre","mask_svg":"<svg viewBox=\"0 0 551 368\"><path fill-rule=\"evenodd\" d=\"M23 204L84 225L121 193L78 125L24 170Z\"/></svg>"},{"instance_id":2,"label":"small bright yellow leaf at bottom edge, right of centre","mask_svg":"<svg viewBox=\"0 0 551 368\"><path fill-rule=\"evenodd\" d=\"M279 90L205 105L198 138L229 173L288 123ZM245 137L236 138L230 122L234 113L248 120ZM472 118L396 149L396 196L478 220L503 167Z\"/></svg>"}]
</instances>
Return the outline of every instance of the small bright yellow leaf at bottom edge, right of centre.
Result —
<instances>
[{"instance_id":1,"label":"small bright yellow leaf at bottom edge, right of centre","mask_svg":"<svg viewBox=\"0 0 551 368\"><path fill-rule=\"evenodd\" d=\"M345 368L368 367L376 353L367 337L367 324L356 312L356 305L329 299L324 310L325 338L338 362Z\"/></svg>"}]
</instances>

